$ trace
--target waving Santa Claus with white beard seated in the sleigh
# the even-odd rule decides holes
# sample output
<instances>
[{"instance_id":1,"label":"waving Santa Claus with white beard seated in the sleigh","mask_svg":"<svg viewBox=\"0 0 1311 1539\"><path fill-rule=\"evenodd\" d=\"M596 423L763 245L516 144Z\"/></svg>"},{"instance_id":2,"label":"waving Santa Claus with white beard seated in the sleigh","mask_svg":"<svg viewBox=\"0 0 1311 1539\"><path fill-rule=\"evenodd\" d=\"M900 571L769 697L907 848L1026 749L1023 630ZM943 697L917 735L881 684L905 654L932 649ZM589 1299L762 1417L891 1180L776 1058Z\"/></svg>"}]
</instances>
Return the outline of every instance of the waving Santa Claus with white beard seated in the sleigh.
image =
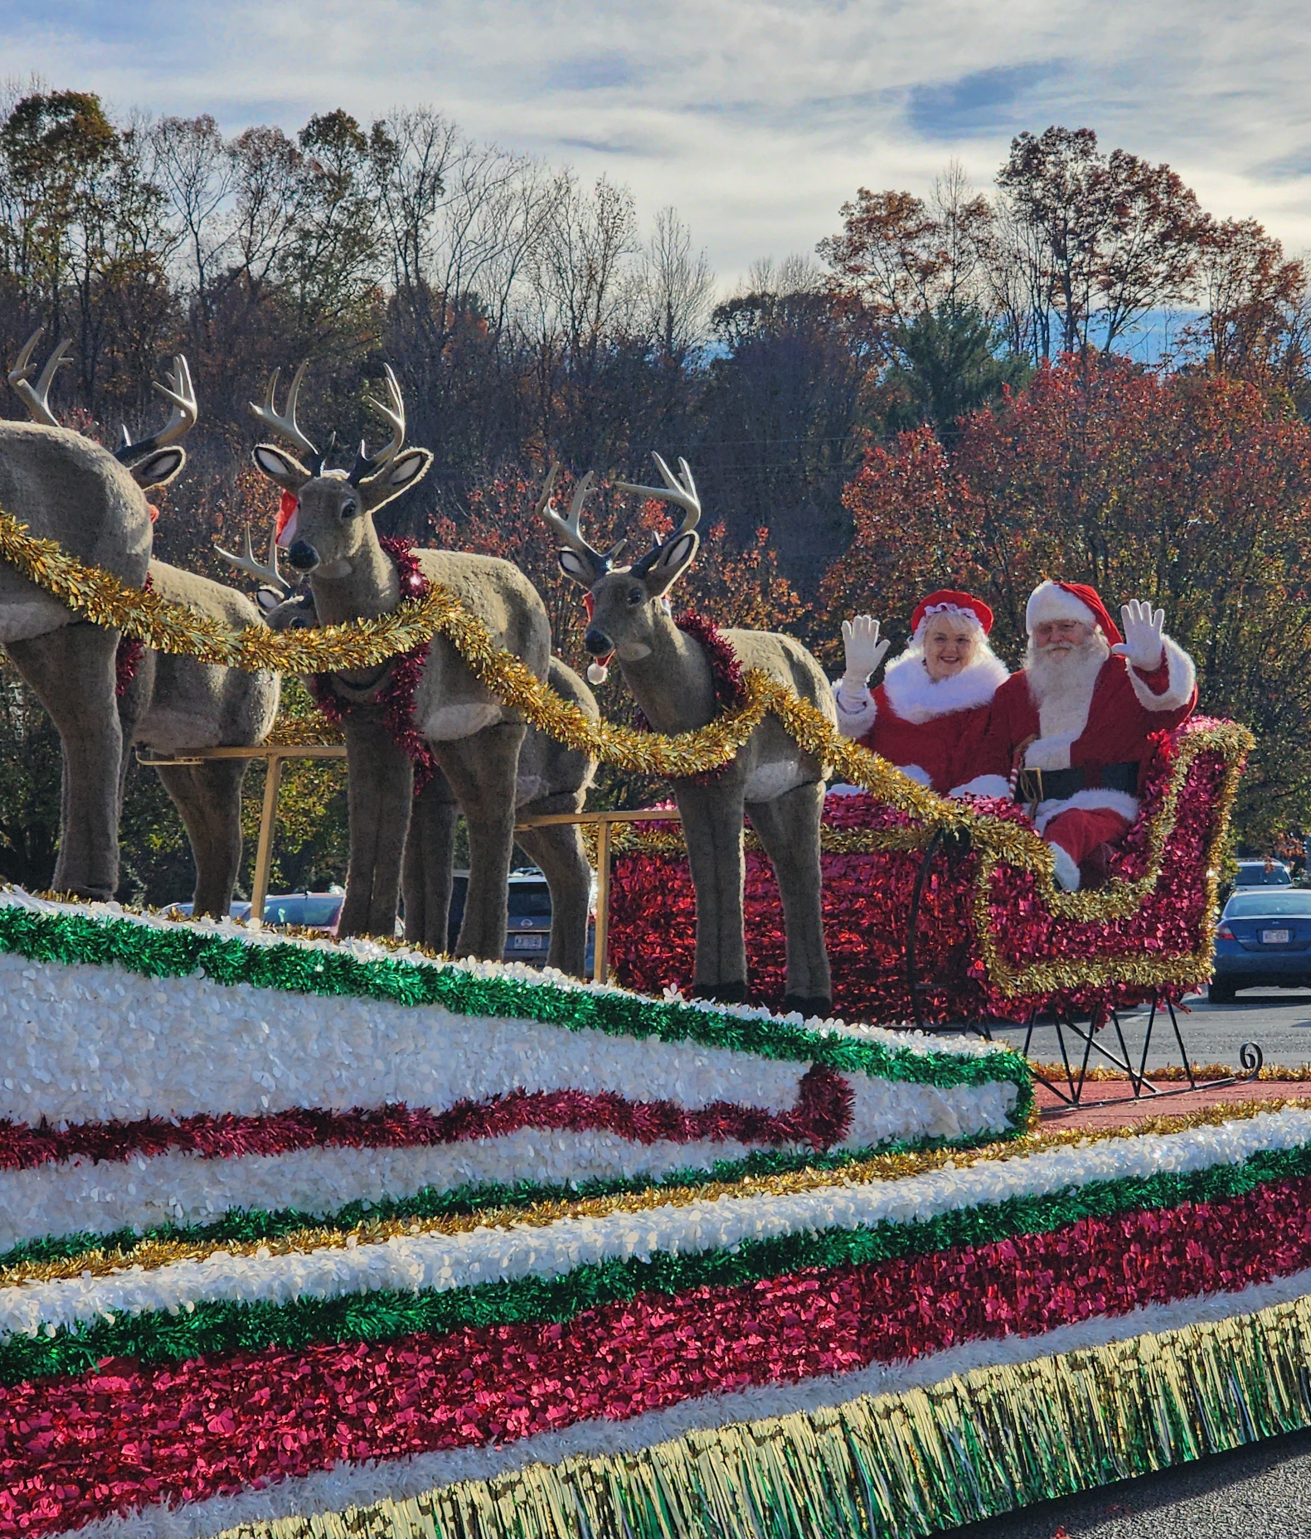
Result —
<instances>
[{"instance_id":1,"label":"waving Santa Claus with white beard seated in the sleigh","mask_svg":"<svg viewBox=\"0 0 1311 1539\"><path fill-rule=\"evenodd\" d=\"M1026 802L1066 891L1105 879L1139 813L1149 734L1197 703L1193 659L1163 634L1165 611L1133 600L1120 616L1123 636L1094 588L1034 588L1025 668L997 691L979 774L960 788Z\"/></svg>"}]
</instances>

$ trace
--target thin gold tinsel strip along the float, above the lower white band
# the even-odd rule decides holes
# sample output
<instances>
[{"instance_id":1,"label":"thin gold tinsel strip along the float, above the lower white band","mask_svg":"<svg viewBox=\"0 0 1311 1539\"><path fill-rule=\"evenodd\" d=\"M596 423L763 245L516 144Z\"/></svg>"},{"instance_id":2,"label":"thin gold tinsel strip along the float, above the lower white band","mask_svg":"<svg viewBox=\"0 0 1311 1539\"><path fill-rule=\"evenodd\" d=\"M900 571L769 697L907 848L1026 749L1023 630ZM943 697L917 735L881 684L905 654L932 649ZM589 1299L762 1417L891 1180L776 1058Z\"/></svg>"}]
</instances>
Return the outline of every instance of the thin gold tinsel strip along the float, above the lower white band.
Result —
<instances>
[{"instance_id":1,"label":"thin gold tinsel strip along the float, above the lower white band","mask_svg":"<svg viewBox=\"0 0 1311 1539\"><path fill-rule=\"evenodd\" d=\"M1092 1071L1089 1071L1092 1077ZM125 1248L92 1247L57 1260L25 1260L0 1268L0 1287L25 1282L54 1282L85 1274L109 1276L126 1267L155 1271L180 1260L205 1260L217 1251L229 1256L309 1254L317 1250L348 1250L352 1245L379 1245L411 1234L466 1234L471 1230L543 1228L562 1219L603 1219L612 1213L645 1213L652 1208L680 1208L692 1202L717 1202L722 1197L800 1196L825 1187L851 1187L871 1180L906 1180L928 1171L952 1165L965 1170L983 1162L1026 1159L1046 1150L1102 1143L1111 1139L1143 1134L1186 1133L1189 1128L1220 1127L1286 1108L1311 1110L1311 1100L1271 1097L1269 1100L1237 1100L1219 1107L1202 1107L1177 1116L1143 1117L1129 1127L1052 1128L1043 1131L1037 1120L1019 1139L986 1143L976 1150L923 1150L914 1154L874 1154L866 1160L834 1170L806 1167L782 1176L743 1176L740 1180L703 1180L685 1187L646 1187L642 1191L617 1193L609 1197L575 1197L574 1200L535 1202L526 1208L486 1208L482 1213L452 1214L432 1219L365 1219L349 1228L323 1224L289 1234L257 1240L157 1240L145 1239Z\"/></svg>"}]
</instances>

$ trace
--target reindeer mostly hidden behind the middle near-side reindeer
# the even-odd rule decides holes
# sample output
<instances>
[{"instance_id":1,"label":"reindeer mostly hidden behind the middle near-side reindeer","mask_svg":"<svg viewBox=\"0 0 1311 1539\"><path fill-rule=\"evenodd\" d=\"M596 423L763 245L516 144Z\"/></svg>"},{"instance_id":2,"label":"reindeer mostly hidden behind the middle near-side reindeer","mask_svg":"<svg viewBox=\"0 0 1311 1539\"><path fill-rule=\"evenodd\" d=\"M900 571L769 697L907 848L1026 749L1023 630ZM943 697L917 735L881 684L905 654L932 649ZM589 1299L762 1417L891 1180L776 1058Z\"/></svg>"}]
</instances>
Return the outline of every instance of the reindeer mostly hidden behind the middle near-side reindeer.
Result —
<instances>
[{"instance_id":1,"label":"reindeer mostly hidden behind the middle near-side reindeer","mask_svg":"<svg viewBox=\"0 0 1311 1539\"><path fill-rule=\"evenodd\" d=\"M259 562L246 534L245 554L218 551L240 571L260 583L259 602L274 631L300 629L319 623L311 594L291 594L277 565L277 536L269 542L266 562ZM279 603L277 599L282 597ZM592 720L600 720L595 697L583 680L551 659L549 686L572 700ZM515 814L582 811L595 774L595 759L574 753L535 728L528 729L519 753L515 776ZM451 782L439 770L422 794L414 797L405 840L402 891L405 896L405 937L432 951L448 945L448 916L455 870L455 817L460 803ZM577 826L548 825L525 828L517 842L542 868L551 888L551 950L546 965L585 976L591 868Z\"/></svg>"}]
</instances>

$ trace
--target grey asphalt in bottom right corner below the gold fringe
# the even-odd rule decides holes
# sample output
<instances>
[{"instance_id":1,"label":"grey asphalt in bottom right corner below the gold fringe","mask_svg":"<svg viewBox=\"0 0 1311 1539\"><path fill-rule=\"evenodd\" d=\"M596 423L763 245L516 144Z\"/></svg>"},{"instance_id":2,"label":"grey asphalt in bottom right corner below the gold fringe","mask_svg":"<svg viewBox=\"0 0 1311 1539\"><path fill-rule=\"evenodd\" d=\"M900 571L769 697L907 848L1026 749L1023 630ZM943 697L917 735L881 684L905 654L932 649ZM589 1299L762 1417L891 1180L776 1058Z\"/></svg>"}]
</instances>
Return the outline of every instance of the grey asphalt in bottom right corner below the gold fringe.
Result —
<instances>
[{"instance_id":1,"label":"grey asphalt in bottom right corner below the gold fringe","mask_svg":"<svg viewBox=\"0 0 1311 1539\"><path fill-rule=\"evenodd\" d=\"M1085 1496L940 1531L940 1539L1311 1539L1311 1431Z\"/></svg>"}]
</instances>

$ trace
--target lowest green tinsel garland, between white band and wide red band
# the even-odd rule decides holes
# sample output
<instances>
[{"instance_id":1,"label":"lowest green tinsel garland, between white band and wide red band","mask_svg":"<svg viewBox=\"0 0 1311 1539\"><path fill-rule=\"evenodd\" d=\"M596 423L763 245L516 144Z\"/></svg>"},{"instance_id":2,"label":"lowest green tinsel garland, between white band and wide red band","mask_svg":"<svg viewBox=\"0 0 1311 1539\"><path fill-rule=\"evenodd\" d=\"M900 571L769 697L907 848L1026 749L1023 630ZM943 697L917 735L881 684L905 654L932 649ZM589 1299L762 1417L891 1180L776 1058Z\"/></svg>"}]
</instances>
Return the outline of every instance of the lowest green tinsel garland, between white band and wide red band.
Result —
<instances>
[{"instance_id":1,"label":"lowest green tinsel garland, between white band and wide red band","mask_svg":"<svg viewBox=\"0 0 1311 1539\"><path fill-rule=\"evenodd\" d=\"M694 1288L731 1288L805 1270L869 1265L952 1247L988 1245L1017 1234L1046 1234L1086 1217L1111 1217L1185 1202L1240 1197L1260 1185L1311 1174L1311 1145L1263 1150L1240 1165L1092 1182L1049 1196L1008 1197L909 1224L826 1230L734 1250L577 1267L559 1277L519 1277L446 1293L375 1291L291 1304L197 1304L194 1313L97 1320L54 1336L0 1342L0 1384L46 1374L77 1374L103 1357L175 1362L206 1353L303 1351L323 1342L392 1340L419 1333L519 1322L566 1322L583 1310L626 1302L639 1293L676 1296Z\"/></svg>"}]
</instances>

